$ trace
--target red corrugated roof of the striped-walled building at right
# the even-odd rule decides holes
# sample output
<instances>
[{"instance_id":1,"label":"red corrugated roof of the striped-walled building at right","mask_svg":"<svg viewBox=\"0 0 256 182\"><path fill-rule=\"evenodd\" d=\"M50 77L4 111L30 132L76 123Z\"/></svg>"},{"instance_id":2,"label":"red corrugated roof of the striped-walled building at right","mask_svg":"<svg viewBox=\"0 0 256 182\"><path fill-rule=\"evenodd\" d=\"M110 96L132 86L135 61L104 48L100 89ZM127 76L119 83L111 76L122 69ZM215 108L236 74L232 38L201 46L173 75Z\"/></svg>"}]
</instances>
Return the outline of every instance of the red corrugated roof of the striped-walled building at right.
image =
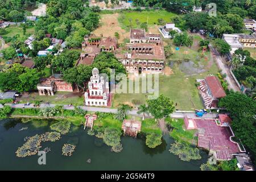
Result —
<instances>
[{"instance_id":1,"label":"red corrugated roof of the striped-walled building at right","mask_svg":"<svg viewBox=\"0 0 256 182\"><path fill-rule=\"evenodd\" d=\"M205 81L207 81L207 85L209 86L210 92L214 98L222 98L226 96L226 93L216 76L208 76L205 78Z\"/></svg>"}]
</instances>

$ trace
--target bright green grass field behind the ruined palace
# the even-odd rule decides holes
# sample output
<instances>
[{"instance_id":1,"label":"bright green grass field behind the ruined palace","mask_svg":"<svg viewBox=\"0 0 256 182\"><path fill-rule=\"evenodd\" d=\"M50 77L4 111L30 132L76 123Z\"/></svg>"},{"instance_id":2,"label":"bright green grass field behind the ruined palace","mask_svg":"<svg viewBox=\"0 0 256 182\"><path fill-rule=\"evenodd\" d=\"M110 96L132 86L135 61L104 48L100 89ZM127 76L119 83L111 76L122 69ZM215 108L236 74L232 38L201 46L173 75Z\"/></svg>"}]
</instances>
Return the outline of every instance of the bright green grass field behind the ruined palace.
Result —
<instances>
[{"instance_id":1,"label":"bright green grass field behind the ruined palace","mask_svg":"<svg viewBox=\"0 0 256 182\"><path fill-rule=\"evenodd\" d=\"M122 13L118 21L124 27L130 27L129 19L132 19L132 26L138 28L136 24L136 19L139 19L139 22L148 22L148 26L154 26L158 24L158 19L162 18L165 22L171 22L171 18L176 14L168 12L166 10L154 10L154 11L125 11Z\"/></svg>"}]
</instances>

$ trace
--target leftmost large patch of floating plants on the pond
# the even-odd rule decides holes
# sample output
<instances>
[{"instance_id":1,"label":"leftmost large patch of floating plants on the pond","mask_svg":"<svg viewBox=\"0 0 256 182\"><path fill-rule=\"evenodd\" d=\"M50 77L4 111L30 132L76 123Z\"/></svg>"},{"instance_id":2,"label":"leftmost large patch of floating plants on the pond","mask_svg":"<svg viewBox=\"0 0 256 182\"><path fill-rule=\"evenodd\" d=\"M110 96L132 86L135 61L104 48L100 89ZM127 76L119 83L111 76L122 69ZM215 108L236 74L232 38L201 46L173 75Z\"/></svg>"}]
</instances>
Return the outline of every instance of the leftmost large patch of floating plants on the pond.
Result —
<instances>
[{"instance_id":1,"label":"leftmost large patch of floating plants on the pond","mask_svg":"<svg viewBox=\"0 0 256 182\"><path fill-rule=\"evenodd\" d=\"M22 147L19 147L15 152L16 156L19 158L24 158L26 156L35 155L39 149L42 147L41 145L41 137L40 135L35 135L34 137L30 137L26 143L23 144Z\"/></svg>"}]
</instances>

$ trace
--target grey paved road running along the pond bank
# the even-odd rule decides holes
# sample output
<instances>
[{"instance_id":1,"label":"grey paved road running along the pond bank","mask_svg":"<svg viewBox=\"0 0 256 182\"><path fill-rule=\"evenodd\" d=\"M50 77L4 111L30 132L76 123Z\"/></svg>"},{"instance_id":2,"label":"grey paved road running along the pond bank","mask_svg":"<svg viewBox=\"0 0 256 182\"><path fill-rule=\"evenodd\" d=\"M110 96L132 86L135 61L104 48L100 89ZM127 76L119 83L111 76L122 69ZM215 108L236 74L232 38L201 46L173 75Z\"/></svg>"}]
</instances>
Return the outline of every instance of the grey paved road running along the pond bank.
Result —
<instances>
[{"instance_id":1,"label":"grey paved road running along the pond bank","mask_svg":"<svg viewBox=\"0 0 256 182\"><path fill-rule=\"evenodd\" d=\"M6 104L6 105L9 105L13 108L23 108L24 104ZM44 107L54 107L56 106L55 104L40 104L40 107L39 108L44 108ZM0 108L3 107L2 105L0 105ZM69 106L69 105L63 105L64 109L67 109L67 110L73 110L75 109L74 106ZM91 111L91 112L102 112L102 113L117 113L117 109L112 109L112 108L108 108L108 107L88 107L88 106L79 106L81 109L84 109L86 111ZM35 108L32 104L29 105L29 106L25 106L25 108ZM129 111L128 114L130 115L140 115L142 116L142 114L137 114L137 111L138 110L131 110ZM192 111L176 111L174 113L171 114L171 117L172 118L184 118L184 115L187 115L187 117L191 117L191 118L195 118L196 115L195 113L193 113ZM217 115L216 114L210 114L210 113L207 113L203 116L203 118L216 118Z\"/></svg>"}]
</instances>

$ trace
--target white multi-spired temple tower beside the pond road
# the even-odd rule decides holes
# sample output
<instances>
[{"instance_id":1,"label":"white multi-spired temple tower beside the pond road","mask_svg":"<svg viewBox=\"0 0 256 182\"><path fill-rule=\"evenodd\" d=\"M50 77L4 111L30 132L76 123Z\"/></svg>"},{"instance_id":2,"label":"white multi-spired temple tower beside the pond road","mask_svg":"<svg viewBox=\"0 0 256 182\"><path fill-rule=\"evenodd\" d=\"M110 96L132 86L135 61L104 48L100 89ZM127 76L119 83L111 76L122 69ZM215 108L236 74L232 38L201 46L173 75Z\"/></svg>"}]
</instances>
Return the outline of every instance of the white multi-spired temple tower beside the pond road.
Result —
<instances>
[{"instance_id":1,"label":"white multi-spired temple tower beside the pond road","mask_svg":"<svg viewBox=\"0 0 256 182\"><path fill-rule=\"evenodd\" d=\"M86 106L108 106L108 102L111 103L109 82L105 82L104 77L99 76L97 68L92 70L84 97Z\"/></svg>"}]
</instances>

